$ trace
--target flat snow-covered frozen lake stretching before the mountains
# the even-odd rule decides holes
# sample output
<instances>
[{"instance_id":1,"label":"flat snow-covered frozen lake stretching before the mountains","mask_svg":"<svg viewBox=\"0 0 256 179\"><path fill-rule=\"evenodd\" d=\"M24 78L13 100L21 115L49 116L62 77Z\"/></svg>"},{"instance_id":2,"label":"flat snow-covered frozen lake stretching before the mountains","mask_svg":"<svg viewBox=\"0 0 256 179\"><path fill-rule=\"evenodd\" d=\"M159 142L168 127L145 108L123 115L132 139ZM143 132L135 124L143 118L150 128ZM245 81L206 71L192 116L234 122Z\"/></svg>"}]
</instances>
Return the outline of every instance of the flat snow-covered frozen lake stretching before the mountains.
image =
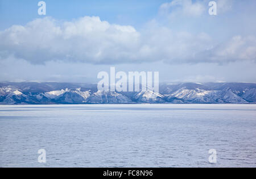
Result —
<instances>
[{"instance_id":1,"label":"flat snow-covered frozen lake stretching before the mountains","mask_svg":"<svg viewBox=\"0 0 256 179\"><path fill-rule=\"evenodd\" d=\"M0 167L256 167L256 105L0 105L0 132Z\"/></svg>"}]
</instances>

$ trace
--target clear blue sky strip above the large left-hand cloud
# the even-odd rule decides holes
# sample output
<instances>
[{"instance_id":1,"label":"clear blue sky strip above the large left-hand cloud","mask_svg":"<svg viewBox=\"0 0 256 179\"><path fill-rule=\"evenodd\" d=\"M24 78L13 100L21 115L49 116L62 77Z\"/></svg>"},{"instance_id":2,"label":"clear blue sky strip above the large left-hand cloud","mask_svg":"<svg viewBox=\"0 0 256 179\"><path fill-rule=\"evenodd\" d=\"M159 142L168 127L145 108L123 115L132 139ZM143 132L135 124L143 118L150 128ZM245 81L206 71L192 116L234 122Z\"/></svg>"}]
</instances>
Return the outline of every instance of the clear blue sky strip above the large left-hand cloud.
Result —
<instances>
[{"instance_id":1,"label":"clear blue sky strip above the large left-hand cloud","mask_svg":"<svg viewBox=\"0 0 256 179\"><path fill-rule=\"evenodd\" d=\"M1 0L1 29L13 24L26 24L37 14L38 0ZM46 0L47 16L56 19L72 20L81 16L100 16L110 23L140 24L151 20L158 14L159 6L164 0Z\"/></svg>"}]
</instances>

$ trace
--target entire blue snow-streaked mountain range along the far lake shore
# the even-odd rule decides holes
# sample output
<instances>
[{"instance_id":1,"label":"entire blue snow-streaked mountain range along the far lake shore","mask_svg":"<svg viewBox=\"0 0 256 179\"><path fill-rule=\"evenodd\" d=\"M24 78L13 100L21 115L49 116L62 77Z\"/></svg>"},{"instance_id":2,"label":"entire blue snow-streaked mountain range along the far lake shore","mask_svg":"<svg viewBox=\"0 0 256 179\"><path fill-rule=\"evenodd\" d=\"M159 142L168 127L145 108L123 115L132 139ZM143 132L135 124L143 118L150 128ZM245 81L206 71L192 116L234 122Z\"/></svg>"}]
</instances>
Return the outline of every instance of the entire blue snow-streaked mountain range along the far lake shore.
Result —
<instances>
[{"instance_id":1,"label":"entire blue snow-streaked mountain range along the far lake shore","mask_svg":"<svg viewBox=\"0 0 256 179\"><path fill-rule=\"evenodd\" d=\"M1 105L129 104L129 103L256 103L256 84L160 84L154 91L105 92L97 84L58 82L0 82Z\"/></svg>"}]
</instances>

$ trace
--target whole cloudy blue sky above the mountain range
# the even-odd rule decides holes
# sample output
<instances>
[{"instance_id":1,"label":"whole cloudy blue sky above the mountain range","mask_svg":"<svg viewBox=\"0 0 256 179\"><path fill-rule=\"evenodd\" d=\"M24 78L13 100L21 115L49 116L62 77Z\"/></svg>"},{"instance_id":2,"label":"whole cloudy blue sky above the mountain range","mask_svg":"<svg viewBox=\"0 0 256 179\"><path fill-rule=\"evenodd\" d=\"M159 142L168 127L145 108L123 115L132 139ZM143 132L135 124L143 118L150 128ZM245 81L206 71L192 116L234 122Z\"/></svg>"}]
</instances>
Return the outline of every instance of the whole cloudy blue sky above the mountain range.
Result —
<instances>
[{"instance_id":1,"label":"whole cloudy blue sky above the mountain range","mask_svg":"<svg viewBox=\"0 0 256 179\"><path fill-rule=\"evenodd\" d=\"M0 0L0 81L98 82L159 72L160 82L256 82L256 1Z\"/></svg>"}]
</instances>

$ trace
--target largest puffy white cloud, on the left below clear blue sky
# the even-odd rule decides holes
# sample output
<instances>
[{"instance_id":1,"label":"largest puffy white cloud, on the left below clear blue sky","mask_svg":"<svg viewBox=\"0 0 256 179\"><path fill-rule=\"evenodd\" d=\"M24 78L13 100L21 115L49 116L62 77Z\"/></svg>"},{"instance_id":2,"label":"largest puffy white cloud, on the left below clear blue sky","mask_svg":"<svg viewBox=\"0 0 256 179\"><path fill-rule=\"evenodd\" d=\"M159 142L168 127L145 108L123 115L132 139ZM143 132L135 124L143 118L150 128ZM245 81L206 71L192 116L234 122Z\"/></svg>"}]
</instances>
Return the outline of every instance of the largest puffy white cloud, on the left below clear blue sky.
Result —
<instances>
[{"instance_id":1,"label":"largest puffy white cloud, on the left below clear blue sky","mask_svg":"<svg viewBox=\"0 0 256 179\"><path fill-rule=\"evenodd\" d=\"M85 16L73 22L52 18L36 19L26 26L0 32L1 54L13 54L31 63L48 60L108 63L133 59L139 33L131 26L119 26Z\"/></svg>"}]
</instances>

